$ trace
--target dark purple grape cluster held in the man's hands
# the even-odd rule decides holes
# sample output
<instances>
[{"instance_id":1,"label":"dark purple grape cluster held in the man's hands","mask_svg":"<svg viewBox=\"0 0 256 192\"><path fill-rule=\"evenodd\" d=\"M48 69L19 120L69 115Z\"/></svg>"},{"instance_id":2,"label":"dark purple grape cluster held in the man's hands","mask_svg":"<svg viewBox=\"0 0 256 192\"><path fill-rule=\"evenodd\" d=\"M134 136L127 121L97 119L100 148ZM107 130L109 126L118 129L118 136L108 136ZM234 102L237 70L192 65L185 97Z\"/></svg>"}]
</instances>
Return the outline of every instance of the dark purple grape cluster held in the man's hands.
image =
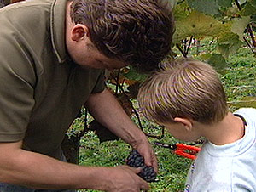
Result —
<instances>
[{"instance_id":1,"label":"dark purple grape cluster held in the man's hands","mask_svg":"<svg viewBox=\"0 0 256 192\"><path fill-rule=\"evenodd\" d=\"M143 170L138 173L138 176L147 182L155 181L156 172L154 172L154 168L145 165L143 156L140 155L137 150L131 151L127 158L126 164L130 167L142 167Z\"/></svg>"}]
</instances>

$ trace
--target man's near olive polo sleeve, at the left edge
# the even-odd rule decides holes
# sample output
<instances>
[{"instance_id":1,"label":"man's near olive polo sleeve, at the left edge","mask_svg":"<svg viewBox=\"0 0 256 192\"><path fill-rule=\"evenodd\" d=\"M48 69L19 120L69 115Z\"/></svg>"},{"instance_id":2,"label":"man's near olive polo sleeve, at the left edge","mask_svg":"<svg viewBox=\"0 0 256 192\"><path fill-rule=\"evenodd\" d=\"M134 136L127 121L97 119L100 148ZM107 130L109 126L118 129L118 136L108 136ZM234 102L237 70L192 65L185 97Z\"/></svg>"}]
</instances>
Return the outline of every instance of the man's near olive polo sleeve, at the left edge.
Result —
<instances>
[{"instance_id":1,"label":"man's near olive polo sleeve, at the left edge","mask_svg":"<svg viewBox=\"0 0 256 192\"><path fill-rule=\"evenodd\" d=\"M0 36L0 142L15 142L25 137L36 77L20 42L4 33Z\"/></svg>"}]
</instances>

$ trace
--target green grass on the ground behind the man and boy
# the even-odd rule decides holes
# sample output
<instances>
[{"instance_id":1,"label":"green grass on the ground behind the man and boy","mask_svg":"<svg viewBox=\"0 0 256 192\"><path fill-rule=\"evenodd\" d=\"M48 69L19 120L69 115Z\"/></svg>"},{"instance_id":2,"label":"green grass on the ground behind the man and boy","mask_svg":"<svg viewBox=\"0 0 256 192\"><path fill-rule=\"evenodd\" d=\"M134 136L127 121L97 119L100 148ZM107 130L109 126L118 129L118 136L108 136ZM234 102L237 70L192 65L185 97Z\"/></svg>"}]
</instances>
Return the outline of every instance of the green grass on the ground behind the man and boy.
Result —
<instances>
[{"instance_id":1,"label":"green grass on the ground behind the man and boy","mask_svg":"<svg viewBox=\"0 0 256 192\"><path fill-rule=\"evenodd\" d=\"M214 48L213 48L214 49ZM213 50L212 49L212 50ZM236 110L242 106L254 106L255 102L241 102L242 99L256 98L256 59L248 48L240 48L237 54L227 60L229 67L221 80L230 103L230 110ZM246 104L246 105L245 105ZM256 106L255 106L256 107ZM133 116L137 123L137 118ZM146 133L160 135L161 129L150 127L150 123L142 118L143 130ZM83 123L76 120L73 127L80 129ZM174 144L177 139L165 133L164 138L157 140L148 138L154 147L159 162L158 181L150 184L149 192L179 192L183 191L186 174L191 161L174 155L172 150L154 145L154 141ZM100 143L97 136L88 132L81 139L79 164L83 166L119 166L125 164L125 158L131 151L131 147L121 140ZM96 192L97 190L83 189L81 191Z\"/></svg>"}]
</instances>

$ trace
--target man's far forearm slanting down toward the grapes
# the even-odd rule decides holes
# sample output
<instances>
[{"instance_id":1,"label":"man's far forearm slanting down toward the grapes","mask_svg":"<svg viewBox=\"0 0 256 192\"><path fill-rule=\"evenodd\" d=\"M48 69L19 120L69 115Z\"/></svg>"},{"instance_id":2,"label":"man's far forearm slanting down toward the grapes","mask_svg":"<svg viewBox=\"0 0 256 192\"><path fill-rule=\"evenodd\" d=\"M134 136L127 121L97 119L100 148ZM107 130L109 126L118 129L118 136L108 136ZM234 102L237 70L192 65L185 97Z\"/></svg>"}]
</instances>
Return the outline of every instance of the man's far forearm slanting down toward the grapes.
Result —
<instances>
[{"instance_id":1,"label":"man's far forearm slanting down toward the grapes","mask_svg":"<svg viewBox=\"0 0 256 192\"><path fill-rule=\"evenodd\" d=\"M133 121L126 115L117 99L107 89L102 93L90 95L85 106L92 116L102 125L108 127L113 133L122 138L126 143L134 146L146 136L138 129Z\"/></svg>"}]
</instances>

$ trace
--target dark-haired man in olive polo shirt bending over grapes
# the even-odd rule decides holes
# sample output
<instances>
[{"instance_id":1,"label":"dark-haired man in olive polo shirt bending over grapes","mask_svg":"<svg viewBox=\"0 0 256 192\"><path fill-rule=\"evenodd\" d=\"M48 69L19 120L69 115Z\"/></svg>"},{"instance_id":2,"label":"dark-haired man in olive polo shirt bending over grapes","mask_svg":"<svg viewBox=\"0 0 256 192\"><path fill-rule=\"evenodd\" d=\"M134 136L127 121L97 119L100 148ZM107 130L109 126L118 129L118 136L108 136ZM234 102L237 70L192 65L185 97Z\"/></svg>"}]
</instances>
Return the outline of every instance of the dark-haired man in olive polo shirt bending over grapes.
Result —
<instances>
[{"instance_id":1,"label":"dark-haired man in olive polo shirt bending over grapes","mask_svg":"<svg viewBox=\"0 0 256 192\"><path fill-rule=\"evenodd\" d=\"M148 139L103 74L126 65L154 70L172 41L166 3L33 0L1 8L0 25L0 191L148 189L139 169L64 162L61 141L85 103L157 169Z\"/></svg>"}]
</instances>

